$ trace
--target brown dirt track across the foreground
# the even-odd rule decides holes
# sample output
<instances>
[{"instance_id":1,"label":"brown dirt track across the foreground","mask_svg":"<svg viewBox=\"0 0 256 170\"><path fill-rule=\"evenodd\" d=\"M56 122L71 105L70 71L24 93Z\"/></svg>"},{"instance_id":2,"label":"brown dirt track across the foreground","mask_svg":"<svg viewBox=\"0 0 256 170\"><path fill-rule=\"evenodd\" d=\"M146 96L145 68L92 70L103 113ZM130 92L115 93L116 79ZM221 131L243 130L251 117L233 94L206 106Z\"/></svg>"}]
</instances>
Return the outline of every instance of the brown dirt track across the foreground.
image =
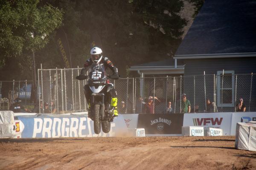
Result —
<instances>
[{"instance_id":1,"label":"brown dirt track across the foreground","mask_svg":"<svg viewBox=\"0 0 256 170\"><path fill-rule=\"evenodd\" d=\"M256 170L235 137L0 139L3 170Z\"/></svg>"}]
</instances>

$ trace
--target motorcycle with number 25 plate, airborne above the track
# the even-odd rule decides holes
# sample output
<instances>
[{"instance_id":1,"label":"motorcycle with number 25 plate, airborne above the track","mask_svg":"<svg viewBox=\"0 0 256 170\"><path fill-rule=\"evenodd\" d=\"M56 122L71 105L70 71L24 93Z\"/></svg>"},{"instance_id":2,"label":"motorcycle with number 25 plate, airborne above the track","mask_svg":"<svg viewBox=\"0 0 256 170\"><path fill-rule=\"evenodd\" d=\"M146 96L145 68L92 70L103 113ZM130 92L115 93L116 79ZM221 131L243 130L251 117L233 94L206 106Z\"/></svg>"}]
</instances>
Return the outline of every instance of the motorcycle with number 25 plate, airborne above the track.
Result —
<instances>
[{"instance_id":1,"label":"motorcycle with number 25 plate, airborne above the track","mask_svg":"<svg viewBox=\"0 0 256 170\"><path fill-rule=\"evenodd\" d=\"M86 92L86 86L89 86L91 93L90 118L93 120L94 132L99 134L102 128L104 133L108 133L111 129L111 122L113 122L114 118L113 108L111 108L110 105L111 101L108 101L109 96L107 96L107 93L113 88L113 84L110 83L109 79L117 78L113 75L105 75L105 68L103 64L93 64L88 72L88 76L79 75L76 79L88 79L87 85L84 86L84 92Z\"/></svg>"}]
</instances>

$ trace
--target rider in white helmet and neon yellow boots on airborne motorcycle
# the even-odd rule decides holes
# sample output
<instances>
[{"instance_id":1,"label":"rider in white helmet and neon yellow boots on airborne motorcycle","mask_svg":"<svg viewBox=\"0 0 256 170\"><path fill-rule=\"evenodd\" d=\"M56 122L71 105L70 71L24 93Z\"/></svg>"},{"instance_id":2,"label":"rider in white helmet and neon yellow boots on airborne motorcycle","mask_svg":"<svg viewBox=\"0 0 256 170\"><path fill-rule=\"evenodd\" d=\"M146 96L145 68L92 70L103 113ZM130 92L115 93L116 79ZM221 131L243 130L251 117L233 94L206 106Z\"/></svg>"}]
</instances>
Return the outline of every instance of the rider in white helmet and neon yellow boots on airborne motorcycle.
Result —
<instances>
[{"instance_id":1,"label":"rider in white helmet and neon yellow boots on airborne motorcycle","mask_svg":"<svg viewBox=\"0 0 256 170\"><path fill-rule=\"evenodd\" d=\"M102 55L102 49L99 47L93 47L90 51L90 58L86 60L84 64L84 68L82 68L81 73L79 76L76 77L76 79L81 80L82 77L87 73L87 70L90 68L90 65L95 63L96 65L104 65L104 67L110 68L113 74L111 75L112 79L118 79L119 75L117 73L117 68L113 65L113 63L108 59L108 57L103 57ZM91 101L90 101L90 96L91 96L91 91L89 88L89 85L84 86L84 91L85 91L85 98L88 103L88 117L91 118ZM117 112L117 93L114 88L112 88L107 94L107 99L108 101L111 100L111 107L113 108L114 116L118 116ZM111 108L109 108L111 109Z\"/></svg>"}]
</instances>

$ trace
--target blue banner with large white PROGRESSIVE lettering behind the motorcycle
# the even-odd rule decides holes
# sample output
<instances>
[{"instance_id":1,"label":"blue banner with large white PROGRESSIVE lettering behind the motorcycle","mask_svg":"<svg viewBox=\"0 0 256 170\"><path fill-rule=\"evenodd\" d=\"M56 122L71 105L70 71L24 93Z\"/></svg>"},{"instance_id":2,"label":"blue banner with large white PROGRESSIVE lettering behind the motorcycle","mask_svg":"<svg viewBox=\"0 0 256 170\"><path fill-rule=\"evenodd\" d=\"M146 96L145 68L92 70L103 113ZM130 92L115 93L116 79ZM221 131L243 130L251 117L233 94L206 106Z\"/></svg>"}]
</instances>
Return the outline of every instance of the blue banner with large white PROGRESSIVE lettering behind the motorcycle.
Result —
<instances>
[{"instance_id":1,"label":"blue banner with large white PROGRESSIVE lettering behind the motorcycle","mask_svg":"<svg viewBox=\"0 0 256 170\"><path fill-rule=\"evenodd\" d=\"M126 131L122 115L111 122L109 133L95 134L93 121L87 115L16 116L24 124L22 138L59 138L59 137L100 137L115 136L120 130Z\"/></svg>"}]
</instances>

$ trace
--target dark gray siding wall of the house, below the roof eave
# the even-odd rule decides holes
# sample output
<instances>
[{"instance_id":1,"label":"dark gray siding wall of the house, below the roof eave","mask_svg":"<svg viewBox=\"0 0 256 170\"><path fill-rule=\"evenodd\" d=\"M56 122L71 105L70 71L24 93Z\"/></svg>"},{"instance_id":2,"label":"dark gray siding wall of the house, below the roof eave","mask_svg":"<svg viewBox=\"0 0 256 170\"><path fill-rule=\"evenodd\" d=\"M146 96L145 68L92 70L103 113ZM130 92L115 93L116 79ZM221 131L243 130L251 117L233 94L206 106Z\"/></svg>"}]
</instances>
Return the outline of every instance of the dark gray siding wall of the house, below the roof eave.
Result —
<instances>
[{"instance_id":1,"label":"dark gray siding wall of the house, below the roof eave","mask_svg":"<svg viewBox=\"0 0 256 170\"><path fill-rule=\"evenodd\" d=\"M244 57L244 58L218 58L218 59L186 59L185 60L185 74L184 76L202 75L204 74L217 74L217 71L235 71L235 74L250 74L254 73L252 79L252 92L251 103L250 100L250 84L251 75L239 75L237 77L237 91L236 91L236 103L238 103L239 97L244 99L246 110L256 111L256 57ZM195 77L195 104L199 105L201 111L204 110L204 77ZM214 87L213 76L207 76L206 78L206 96L213 101ZM187 94L188 99L194 105L194 81L192 77L184 77L182 91ZM218 95L218 94L217 94ZM218 96L217 96L218 99ZM221 111L221 107L218 107L218 111ZM223 108L222 111L234 111L233 107Z\"/></svg>"}]
</instances>

